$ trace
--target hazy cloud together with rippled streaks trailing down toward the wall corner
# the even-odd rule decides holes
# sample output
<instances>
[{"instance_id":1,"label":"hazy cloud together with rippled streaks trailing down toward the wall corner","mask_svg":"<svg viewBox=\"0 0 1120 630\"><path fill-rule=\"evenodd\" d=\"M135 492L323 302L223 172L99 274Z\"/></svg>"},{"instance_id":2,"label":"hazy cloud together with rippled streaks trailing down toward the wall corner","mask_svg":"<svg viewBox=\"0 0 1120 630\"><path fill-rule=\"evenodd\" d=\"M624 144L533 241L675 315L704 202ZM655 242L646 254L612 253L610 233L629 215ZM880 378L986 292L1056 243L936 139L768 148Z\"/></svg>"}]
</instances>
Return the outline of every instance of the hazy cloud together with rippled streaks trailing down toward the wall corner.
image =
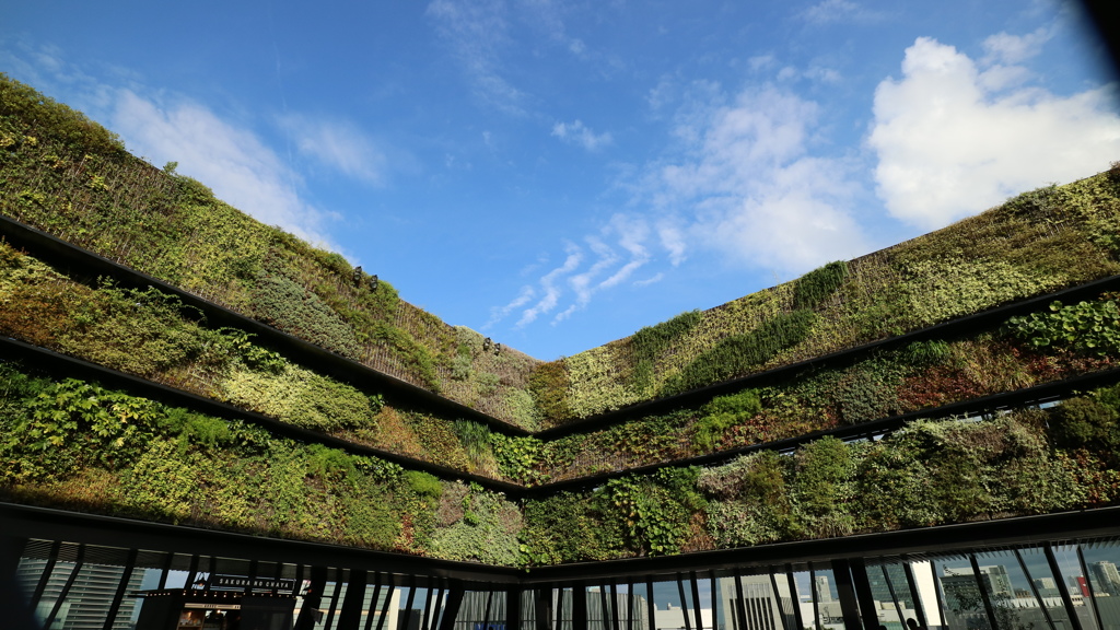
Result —
<instances>
[{"instance_id":1,"label":"hazy cloud together with rippled streaks trailing down toward the wall corner","mask_svg":"<svg viewBox=\"0 0 1120 630\"><path fill-rule=\"evenodd\" d=\"M662 85L656 105L676 103L669 121L675 148L618 185L631 209L566 245L564 263L540 278L540 297L517 327L551 312L558 324L605 291L662 281L699 250L799 274L868 249L850 212L859 191L851 168L811 155L818 104L768 84L737 94L710 82L683 93ZM650 274L635 279L642 269Z\"/></svg>"}]
</instances>

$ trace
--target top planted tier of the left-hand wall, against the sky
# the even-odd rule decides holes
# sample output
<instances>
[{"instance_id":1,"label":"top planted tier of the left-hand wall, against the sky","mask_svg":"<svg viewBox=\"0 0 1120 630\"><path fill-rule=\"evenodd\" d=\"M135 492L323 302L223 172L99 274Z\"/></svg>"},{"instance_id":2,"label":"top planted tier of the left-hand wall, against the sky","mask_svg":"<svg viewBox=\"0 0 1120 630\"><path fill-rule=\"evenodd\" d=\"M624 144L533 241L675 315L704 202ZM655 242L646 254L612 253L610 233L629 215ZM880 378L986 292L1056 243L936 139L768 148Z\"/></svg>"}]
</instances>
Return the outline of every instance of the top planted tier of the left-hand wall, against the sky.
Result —
<instances>
[{"instance_id":1,"label":"top planted tier of the left-hand wall, against the sky","mask_svg":"<svg viewBox=\"0 0 1120 630\"><path fill-rule=\"evenodd\" d=\"M0 75L0 213L497 419L535 427L536 363L493 351L339 254L125 151L111 132Z\"/></svg>"}]
</instances>

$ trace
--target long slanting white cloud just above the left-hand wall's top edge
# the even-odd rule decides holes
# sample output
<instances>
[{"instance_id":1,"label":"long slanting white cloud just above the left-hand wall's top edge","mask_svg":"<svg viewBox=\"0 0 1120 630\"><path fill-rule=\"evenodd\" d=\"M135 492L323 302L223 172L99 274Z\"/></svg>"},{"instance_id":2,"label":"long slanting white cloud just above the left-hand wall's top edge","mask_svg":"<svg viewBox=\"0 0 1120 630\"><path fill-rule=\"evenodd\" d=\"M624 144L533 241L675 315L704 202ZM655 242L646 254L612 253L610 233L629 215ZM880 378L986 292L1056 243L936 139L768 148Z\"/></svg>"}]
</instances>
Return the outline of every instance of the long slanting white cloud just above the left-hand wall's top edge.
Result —
<instances>
[{"instance_id":1,"label":"long slanting white cloud just above the left-hand wall's top edge","mask_svg":"<svg viewBox=\"0 0 1120 630\"><path fill-rule=\"evenodd\" d=\"M209 186L218 198L258 220L317 244L327 215L304 202L299 176L253 132L220 119L198 103L157 102L131 90L113 93L110 124L132 152Z\"/></svg>"}]
</instances>

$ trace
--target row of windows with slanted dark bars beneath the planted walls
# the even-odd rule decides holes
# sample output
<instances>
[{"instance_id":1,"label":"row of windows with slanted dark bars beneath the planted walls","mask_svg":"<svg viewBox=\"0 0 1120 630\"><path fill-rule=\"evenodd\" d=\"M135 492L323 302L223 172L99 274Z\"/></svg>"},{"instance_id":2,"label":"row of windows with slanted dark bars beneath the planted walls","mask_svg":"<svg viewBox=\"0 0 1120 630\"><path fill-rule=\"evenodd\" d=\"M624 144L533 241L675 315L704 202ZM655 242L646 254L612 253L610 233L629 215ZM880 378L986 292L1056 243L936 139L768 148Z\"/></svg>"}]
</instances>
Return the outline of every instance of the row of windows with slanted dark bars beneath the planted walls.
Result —
<instances>
[{"instance_id":1,"label":"row of windows with slanted dark bars beneath the planted walls","mask_svg":"<svg viewBox=\"0 0 1120 630\"><path fill-rule=\"evenodd\" d=\"M32 539L16 577L57 630L137 628L171 591L295 600L262 630L1120 630L1118 566L1109 538L500 585Z\"/></svg>"}]
</instances>

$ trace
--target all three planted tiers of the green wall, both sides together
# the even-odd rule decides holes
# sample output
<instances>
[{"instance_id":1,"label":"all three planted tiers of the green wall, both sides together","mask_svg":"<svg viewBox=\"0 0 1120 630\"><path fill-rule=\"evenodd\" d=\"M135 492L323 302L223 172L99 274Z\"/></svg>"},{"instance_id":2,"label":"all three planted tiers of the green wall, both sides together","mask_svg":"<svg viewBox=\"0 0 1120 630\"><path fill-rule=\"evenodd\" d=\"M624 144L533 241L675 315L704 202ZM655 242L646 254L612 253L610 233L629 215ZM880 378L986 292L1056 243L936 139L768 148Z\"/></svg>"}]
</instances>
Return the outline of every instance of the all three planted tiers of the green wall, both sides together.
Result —
<instances>
[{"instance_id":1,"label":"all three planted tiers of the green wall, both sides together","mask_svg":"<svg viewBox=\"0 0 1120 630\"><path fill-rule=\"evenodd\" d=\"M440 322L2 76L0 213L528 429L1120 272L1113 166L542 363ZM1120 492L1116 388L1047 410L921 420L871 442L803 439L792 455L768 446L1112 370L1113 293L548 439L386 404L243 327L211 325L175 296L72 277L3 241L0 306L0 334L463 474L533 485L660 465L517 499L3 361L0 497L16 502L534 566L1098 507ZM702 469L680 462L743 447L753 451Z\"/></svg>"}]
</instances>

